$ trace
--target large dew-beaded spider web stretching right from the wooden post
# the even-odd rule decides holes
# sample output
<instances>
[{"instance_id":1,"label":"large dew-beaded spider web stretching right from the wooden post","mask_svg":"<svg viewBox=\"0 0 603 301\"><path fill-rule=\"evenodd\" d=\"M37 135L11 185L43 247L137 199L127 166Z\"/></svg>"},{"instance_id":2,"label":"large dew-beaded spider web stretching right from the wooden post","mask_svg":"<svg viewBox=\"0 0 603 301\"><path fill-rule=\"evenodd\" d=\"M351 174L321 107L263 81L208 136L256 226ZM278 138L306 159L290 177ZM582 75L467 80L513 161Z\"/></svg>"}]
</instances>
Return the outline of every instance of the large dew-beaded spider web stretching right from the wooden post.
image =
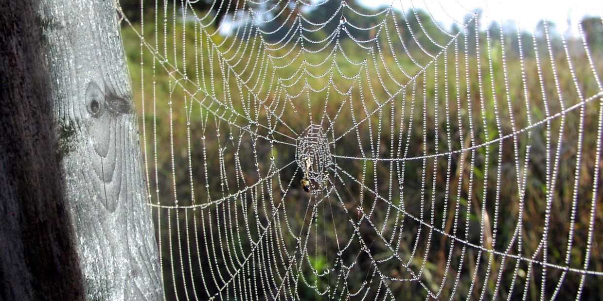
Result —
<instances>
[{"instance_id":1,"label":"large dew-beaded spider web stretching right from the wooden post","mask_svg":"<svg viewBox=\"0 0 603 301\"><path fill-rule=\"evenodd\" d=\"M603 49L584 23L203 1L122 20L167 299L603 296Z\"/></svg>"}]
</instances>

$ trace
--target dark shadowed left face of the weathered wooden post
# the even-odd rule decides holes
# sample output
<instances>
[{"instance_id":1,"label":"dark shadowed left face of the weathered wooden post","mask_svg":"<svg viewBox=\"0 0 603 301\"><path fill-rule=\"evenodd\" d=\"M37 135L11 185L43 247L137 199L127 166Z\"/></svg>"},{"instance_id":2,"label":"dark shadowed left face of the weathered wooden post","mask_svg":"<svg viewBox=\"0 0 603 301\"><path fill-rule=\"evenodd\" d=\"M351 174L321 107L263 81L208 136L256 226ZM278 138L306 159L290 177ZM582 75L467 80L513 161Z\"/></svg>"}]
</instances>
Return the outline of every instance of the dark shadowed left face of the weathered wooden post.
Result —
<instances>
[{"instance_id":1,"label":"dark shadowed left face of the weathered wooden post","mask_svg":"<svg viewBox=\"0 0 603 301\"><path fill-rule=\"evenodd\" d=\"M84 300L33 1L0 1L0 300Z\"/></svg>"}]
</instances>

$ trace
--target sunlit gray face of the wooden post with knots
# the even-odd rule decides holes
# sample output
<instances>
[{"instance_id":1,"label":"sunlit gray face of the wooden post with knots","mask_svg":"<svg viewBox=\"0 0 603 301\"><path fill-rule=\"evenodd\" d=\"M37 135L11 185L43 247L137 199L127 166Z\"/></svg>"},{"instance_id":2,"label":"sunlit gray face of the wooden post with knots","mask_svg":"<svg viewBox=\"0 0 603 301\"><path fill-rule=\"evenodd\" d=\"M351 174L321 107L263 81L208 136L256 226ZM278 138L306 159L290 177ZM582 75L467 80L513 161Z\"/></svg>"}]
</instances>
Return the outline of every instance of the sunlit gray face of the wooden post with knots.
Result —
<instances>
[{"instance_id":1,"label":"sunlit gray face of the wooden post with knots","mask_svg":"<svg viewBox=\"0 0 603 301\"><path fill-rule=\"evenodd\" d=\"M39 141L46 145L38 144L36 151L58 161L54 176L71 214L86 299L163 299L115 2L2 2L33 8L41 45L31 50L42 55L45 64L47 75L40 80L48 85L45 114L51 117L57 140ZM78 279L72 281L77 286Z\"/></svg>"}]
</instances>

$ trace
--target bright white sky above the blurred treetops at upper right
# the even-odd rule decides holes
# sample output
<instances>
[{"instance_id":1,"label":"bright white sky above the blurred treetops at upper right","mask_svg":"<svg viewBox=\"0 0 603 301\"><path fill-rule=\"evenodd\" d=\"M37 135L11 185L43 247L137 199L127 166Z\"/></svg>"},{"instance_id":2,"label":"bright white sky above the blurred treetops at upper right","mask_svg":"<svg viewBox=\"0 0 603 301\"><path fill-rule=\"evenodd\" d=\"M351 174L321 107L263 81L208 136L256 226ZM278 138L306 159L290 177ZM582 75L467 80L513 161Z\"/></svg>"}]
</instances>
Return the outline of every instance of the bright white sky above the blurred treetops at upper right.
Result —
<instances>
[{"instance_id":1,"label":"bright white sky above the blurred treetops at upper right","mask_svg":"<svg viewBox=\"0 0 603 301\"><path fill-rule=\"evenodd\" d=\"M484 25L493 20L513 20L518 21L522 28L532 29L538 20L547 19L554 22L561 31L566 31L568 19L573 27L583 16L603 14L602 0L358 0L358 3L371 8L393 3L394 8L403 7L405 11L412 5L423 10L429 9L434 19L447 28L452 25L453 19L463 22L463 16L475 8L484 9Z\"/></svg>"}]
</instances>

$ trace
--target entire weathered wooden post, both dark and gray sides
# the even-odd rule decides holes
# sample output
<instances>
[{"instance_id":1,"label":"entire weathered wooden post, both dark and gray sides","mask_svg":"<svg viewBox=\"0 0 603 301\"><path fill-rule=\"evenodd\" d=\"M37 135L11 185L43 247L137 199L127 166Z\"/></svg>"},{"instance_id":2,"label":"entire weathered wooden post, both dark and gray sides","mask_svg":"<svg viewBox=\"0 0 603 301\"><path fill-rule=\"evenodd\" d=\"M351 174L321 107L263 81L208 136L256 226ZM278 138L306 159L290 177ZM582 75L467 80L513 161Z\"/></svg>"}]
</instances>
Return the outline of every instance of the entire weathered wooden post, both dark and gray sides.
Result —
<instances>
[{"instance_id":1,"label":"entire weathered wooden post, both dark and gray sides","mask_svg":"<svg viewBox=\"0 0 603 301\"><path fill-rule=\"evenodd\" d=\"M24 254L8 264L12 249L0 243L0 276L18 273L16 284L0 285L0 299L163 299L115 2L2 1L0 9L0 31L20 46L0 39L9 83L0 90L0 197L10 201L0 208L0 239L19 233ZM33 266L39 261L46 267ZM57 271L35 283L47 269Z\"/></svg>"}]
</instances>

